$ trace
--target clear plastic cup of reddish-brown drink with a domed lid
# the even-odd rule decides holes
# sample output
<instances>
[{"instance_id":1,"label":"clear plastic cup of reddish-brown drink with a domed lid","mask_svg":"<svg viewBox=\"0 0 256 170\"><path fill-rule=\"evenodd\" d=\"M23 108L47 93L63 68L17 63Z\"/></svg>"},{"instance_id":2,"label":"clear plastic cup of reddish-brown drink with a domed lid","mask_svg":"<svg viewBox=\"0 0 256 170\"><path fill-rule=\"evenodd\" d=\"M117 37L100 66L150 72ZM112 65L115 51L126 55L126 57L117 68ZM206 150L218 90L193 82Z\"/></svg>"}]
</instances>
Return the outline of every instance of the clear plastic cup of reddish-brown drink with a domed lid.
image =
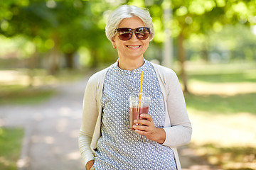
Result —
<instances>
[{"instance_id":1,"label":"clear plastic cup of reddish-brown drink with a domed lid","mask_svg":"<svg viewBox=\"0 0 256 170\"><path fill-rule=\"evenodd\" d=\"M142 101L141 106L139 107L139 93L133 92L131 96L129 96L129 115L130 115L130 128L133 125L138 125L134 123L134 120L142 119L140 115L142 113L149 113L149 103L151 102L150 96L145 92L142 92Z\"/></svg>"}]
</instances>

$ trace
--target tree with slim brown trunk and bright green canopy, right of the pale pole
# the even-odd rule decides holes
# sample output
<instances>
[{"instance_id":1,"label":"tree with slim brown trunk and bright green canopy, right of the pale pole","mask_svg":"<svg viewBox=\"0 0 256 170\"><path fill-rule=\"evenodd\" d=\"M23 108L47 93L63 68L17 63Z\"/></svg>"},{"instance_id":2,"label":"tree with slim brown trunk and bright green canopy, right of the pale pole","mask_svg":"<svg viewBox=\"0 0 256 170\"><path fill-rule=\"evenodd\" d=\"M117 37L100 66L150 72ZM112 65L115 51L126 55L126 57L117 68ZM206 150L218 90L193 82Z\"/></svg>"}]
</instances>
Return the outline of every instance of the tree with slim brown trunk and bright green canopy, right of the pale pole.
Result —
<instances>
[{"instance_id":1,"label":"tree with slim brown trunk and bright green canopy, right of the pale pole","mask_svg":"<svg viewBox=\"0 0 256 170\"><path fill-rule=\"evenodd\" d=\"M221 29L225 24L242 22L249 26L252 24L250 18L256 15L256 3L255 1L190 0L181 4L181 1L175 0L173 1L173 11L173 35L178 38L178 58L181 63L183 90L188 93L184 69L186 61L184 40L193 34L206 35L209 30Z\"/></svg>"}]
</instances>

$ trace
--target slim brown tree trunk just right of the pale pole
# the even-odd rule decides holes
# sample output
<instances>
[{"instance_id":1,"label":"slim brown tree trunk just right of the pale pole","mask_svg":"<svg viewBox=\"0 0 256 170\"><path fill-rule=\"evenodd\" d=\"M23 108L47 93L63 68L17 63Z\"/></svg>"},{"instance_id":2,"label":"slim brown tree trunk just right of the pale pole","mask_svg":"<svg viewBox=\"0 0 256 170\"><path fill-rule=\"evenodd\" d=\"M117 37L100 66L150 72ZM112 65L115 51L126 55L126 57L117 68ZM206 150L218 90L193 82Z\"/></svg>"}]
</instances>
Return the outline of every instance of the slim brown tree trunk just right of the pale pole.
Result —
<instances>
[{"instance_id":1,"label":"slim brown tree trunk just right of the pale pole","mask_svg":"<svg viewBox=\"0 0 256 170\"><path fill-rule=\"evenodd\" d=\"M186 72L185 72L185 62L186 62L186 55L185 55L185 50L183 47L183 33L181 33L178 36L178 60L181 64L181 79L183 82L183 93L189 93L188 91L188 84L187 84L187 77L186 77Z\"/></svg>"}]
</instances>

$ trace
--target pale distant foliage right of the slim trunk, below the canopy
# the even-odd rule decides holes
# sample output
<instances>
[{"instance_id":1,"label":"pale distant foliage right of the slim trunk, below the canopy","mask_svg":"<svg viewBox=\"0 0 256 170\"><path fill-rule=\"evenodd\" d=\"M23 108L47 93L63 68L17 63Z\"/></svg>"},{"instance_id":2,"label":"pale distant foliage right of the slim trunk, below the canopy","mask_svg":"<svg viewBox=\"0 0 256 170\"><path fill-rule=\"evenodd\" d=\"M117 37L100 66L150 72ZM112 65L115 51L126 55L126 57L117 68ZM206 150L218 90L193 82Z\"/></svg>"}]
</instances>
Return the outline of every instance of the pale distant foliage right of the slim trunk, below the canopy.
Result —
<instances>
[{"instance_id":1,"label":"pale distant foliage right of the slim trunk, below the canopy","mask_svg":"<svg viewBox=\"0 0 256 170\"><path fill-rule=\"evenodd\" d=\"M220 26L218 32L192 34L186 40L188 60L230 62L232 60L256 60L256 35L252 28L237 24Z\"/></svg>"}]
</instances>

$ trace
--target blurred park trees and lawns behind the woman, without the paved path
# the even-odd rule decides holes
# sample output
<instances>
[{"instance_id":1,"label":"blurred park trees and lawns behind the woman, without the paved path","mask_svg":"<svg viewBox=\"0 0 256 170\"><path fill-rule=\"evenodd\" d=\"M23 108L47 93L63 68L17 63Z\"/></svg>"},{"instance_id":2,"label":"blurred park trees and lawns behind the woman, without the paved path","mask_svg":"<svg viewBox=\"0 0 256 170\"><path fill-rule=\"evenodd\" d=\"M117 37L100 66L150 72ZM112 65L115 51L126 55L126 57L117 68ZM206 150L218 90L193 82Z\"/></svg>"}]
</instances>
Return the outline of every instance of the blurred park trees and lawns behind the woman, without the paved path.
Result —
<instances>
[{"instance_id":1,"label":"blurred park trees and lawns behind the woman, without the paved path","mask_svg":"<svg viewBox=\"0 0 256 170\"><path fill-rule=\"evenodd\" d=\"M144 57L178 74L189 147L221 169L256 169L255 0L1 0L0 108L38 105L53 87L115 62L105 24L122 4L151 13L155 36ZM2 116L0 167L16 166L20 151L10 158L2 148L9 135L21 147L24 132Z\"/></svg>"}]
</instances>

